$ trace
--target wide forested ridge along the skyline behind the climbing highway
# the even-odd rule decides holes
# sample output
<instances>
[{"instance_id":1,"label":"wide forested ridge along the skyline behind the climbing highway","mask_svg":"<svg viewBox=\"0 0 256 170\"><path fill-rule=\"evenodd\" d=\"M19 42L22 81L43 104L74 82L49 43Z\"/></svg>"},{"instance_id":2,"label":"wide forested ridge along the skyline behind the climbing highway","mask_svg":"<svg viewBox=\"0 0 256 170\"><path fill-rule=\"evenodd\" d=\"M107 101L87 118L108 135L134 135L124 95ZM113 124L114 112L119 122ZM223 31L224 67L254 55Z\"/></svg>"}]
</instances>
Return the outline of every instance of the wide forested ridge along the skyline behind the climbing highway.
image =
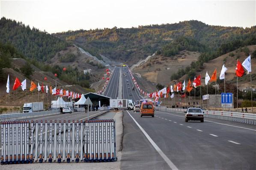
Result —
<instances>
[{"instance_id":1,"label":"wide forested ridge along the skyline behind the climbing highway","mask_svg":"<svg viewBox=\"0 0 256 170\"><path fill-rule=\"evenodd\" d=\"M255 26L245 29L209 26L191 20L130 29L114 27L68 31L57 33L55 36L81 46L98 58L102 54L117 61L133 64L156 51L163 52L165 56L173 56L184 49L214 52L222 44L246 41L255 34Z\"/></svg>"}]
</instances>

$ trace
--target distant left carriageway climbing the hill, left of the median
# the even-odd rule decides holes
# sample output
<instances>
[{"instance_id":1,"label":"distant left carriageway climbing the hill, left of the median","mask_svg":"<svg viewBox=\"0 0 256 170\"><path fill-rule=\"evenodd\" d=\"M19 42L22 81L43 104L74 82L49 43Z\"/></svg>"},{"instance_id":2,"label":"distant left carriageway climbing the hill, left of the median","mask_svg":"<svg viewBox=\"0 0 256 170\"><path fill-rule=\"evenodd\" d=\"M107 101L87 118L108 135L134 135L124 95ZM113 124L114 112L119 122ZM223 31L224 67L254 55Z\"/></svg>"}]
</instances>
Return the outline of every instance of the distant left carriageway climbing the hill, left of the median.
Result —
<instances>
[{"instance_id":1,"label":"distant left carriageway climbing the hill, left of the median","mask_svg":"<svg viewBox=\"0 0 256 170\"><path fill-rule=\"evenodd\" d=\"M110 81L107 85L107 89L104 92L104 95L110 98L117 98L118 96L118 83L119 83L119 72L120 67L116 67L111 75Z\"/></svg>"}]
</instances>

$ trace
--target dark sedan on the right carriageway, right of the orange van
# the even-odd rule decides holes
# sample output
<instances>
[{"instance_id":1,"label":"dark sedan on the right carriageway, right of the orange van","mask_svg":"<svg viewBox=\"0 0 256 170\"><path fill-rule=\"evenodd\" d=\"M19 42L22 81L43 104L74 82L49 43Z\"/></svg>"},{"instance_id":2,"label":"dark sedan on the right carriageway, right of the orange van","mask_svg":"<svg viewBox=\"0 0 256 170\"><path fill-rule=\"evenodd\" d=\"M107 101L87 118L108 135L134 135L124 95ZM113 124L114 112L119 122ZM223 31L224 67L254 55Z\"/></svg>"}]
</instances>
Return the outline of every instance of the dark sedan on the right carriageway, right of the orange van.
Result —
<instances>
[{"instance_id":1,"label":"dark sedan on the right carriageway, right of the orange van","mask_svg":"<svg viewBox=\"0 0 256 170\"><path fill-rule=\"evenodd\" d=\"M185 122L188 121L201 121L204 119L204 112L200 108L191 107L185 111Z\"/></svg>"}]
</instances>

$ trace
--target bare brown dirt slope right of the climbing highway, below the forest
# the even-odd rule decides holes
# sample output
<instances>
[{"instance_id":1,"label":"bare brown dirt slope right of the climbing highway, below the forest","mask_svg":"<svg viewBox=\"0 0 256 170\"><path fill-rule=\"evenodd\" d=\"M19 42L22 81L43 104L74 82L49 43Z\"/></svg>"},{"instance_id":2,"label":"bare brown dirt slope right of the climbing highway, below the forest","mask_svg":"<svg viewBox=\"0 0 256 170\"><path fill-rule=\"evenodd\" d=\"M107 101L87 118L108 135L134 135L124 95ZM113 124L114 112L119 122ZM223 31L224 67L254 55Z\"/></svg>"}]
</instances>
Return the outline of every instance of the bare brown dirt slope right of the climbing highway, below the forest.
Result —
<instances>
[{"instance_id":1,"label":"bare brown dirt slope right of the climbing highway, below the forest","mask_svg":"<svg viewBox=\"0 0 256 170\"><path fill-rule=\"evenodd\" d=\"M139 73L146 80L152 83L168 84L170 77L179 68L189 66L192 61L196 61L199 52L182 51L180 55L176 55L173 59L162 55L155 55L146 63L134 69L134 72Z\"/></svg>"}]
</instances>

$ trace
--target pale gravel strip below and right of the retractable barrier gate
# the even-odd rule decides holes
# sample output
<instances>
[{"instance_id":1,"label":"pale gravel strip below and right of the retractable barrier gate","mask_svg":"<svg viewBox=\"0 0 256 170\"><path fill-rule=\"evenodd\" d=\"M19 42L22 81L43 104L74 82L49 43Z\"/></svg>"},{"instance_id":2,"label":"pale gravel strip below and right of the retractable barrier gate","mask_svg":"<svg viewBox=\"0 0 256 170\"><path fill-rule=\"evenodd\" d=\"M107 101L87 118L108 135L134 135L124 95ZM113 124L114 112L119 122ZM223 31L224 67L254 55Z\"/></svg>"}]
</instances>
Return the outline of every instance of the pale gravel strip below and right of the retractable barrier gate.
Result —
<instances>
[{"instance_id":1,"label":"pale gravel strip below and right of the retractable barrier gate","mask_svg":"<svg viewBox=\"0 0 256 170\"><path fill-rule=\"evenodd\" d=\"M33 163L33 164L12 164L1 165L1 170L120 170L121 168L121 150L122 150L122 111L107 112L97 119L116 119L116 162L101 162L101 163Z\"/></svg>"}]
</instances>

